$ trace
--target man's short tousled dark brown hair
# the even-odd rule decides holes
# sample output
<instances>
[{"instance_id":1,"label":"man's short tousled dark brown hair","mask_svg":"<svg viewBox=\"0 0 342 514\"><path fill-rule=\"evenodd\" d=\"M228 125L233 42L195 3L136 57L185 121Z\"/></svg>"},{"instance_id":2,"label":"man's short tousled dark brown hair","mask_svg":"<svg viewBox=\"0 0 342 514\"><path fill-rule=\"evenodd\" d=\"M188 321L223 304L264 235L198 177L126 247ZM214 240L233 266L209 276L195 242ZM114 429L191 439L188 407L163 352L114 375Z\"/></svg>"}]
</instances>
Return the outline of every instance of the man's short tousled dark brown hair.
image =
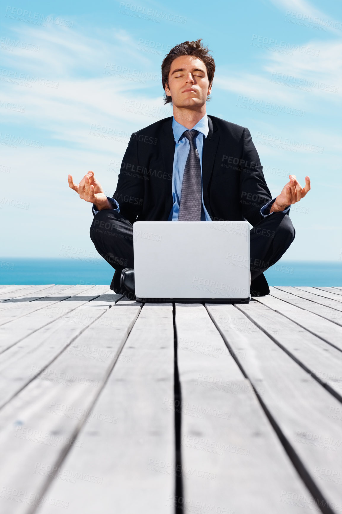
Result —
<instances>
[{"instance_id":1,"label":"man's short tousled dark brown hair","mask_svg":"<svg viewBox=\"0 0 342 514\"><path fill-rule=\"evenodd\" d=\"M167 56L164 58L162 62L162 83L165 91L165 86L168 86L168 74L171 69L172 62L177 59L177 57L181 56L194 56L197 59L203 61L206 67L206 72L209 79L209 85L213 84L214 73L215 73L215 61L213 57L208 53L211 50L208 49L207 46L203 46L201 43L202 39L198 39L196 41L184 41L180 45L174 46ZM207 98L207 101L210 98ZM169 96L164 96L164 104L172 102L172 98Z\"/></svg>"}]
</instances>

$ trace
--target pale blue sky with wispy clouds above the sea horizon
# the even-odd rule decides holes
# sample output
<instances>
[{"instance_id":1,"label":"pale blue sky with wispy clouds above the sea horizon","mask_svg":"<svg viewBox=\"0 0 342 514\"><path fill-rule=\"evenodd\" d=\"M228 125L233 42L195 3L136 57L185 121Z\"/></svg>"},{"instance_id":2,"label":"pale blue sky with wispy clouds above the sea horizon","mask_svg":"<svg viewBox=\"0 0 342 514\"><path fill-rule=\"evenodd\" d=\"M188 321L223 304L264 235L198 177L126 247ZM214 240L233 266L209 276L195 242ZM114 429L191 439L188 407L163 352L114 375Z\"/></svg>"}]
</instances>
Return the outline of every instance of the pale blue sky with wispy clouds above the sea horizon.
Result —
<instances>
[{"instance_id":1,"label":"pale blue sky with wispy clouds above the sea horizon","mask_svg":"<svg viewBox=\"0 0 342 514\"><path fill-rule=\"evenodd\" d=\"M68 189L93 170L116 189L129 136L172 115L160 66L203 38L216 62L207 113L251 131L276 196L294 173L292 260L342 258L341 3L3 4L0 51L2 255L93 252L91 205Z\"/></svg>"}]
</instances>

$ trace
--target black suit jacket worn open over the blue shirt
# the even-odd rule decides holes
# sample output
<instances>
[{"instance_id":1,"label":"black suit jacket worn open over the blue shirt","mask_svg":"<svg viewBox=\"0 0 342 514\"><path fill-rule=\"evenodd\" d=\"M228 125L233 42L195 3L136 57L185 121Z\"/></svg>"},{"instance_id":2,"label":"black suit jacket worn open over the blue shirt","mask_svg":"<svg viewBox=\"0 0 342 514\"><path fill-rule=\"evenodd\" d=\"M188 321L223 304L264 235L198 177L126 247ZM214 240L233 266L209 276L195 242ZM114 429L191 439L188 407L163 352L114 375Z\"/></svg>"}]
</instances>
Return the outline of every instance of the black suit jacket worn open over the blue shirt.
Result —
<instances>
[{"instance_id":1,"label":"black suit jacket worn open over the blue shirt","mask_svg":"<svg viewBox=\"0 0 342 514\"><path fill-rule=\"evenodd\" d=\"M175 140L172 117L131 135L113 198L130 223L167 221L173 206ZM271 199L248 128L208 116L203 139L202 185L205 208L213 221L262 219Z\"/></svg>"}]
</instances>

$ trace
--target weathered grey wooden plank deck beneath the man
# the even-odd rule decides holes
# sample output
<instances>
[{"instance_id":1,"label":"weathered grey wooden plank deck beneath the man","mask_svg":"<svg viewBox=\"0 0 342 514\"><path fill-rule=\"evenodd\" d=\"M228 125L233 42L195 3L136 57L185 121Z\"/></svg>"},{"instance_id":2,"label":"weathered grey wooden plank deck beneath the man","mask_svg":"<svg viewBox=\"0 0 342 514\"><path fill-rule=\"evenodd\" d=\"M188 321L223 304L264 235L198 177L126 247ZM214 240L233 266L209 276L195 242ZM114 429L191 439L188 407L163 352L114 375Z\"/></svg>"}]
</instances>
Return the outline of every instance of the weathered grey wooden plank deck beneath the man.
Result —
<instances>
[{"instance_id":1,"label":"weathered grey wooden plank deck beneath the man","mask_svg":"<svg viewBox=\"0 0 342 514\"><path fill-rule=\"evenodd\" d=\"M342 287L0 302L1 514L342 512Z\"/></svg>"}]
</instances>

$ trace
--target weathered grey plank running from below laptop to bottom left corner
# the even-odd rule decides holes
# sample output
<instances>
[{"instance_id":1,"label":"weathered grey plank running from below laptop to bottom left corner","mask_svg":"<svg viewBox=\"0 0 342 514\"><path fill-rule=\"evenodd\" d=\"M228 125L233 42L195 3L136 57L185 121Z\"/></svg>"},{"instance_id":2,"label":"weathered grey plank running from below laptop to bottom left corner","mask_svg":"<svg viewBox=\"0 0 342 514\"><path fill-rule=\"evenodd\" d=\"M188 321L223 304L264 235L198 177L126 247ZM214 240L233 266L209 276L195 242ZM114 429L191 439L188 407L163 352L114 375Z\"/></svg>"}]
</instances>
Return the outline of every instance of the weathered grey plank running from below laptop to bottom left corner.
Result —
<instances>
[{"instance_id":1,"label":"weathered grey plank running from below laptop to bottom left corner","mask_svg":"<svg viewBox=\"0 0 342 514\"><path fill-rule=\"evenodd\" d=\"M64 352L49 366L51 373L48 379L37 377L0 412L0 448L3 455L0 463L0 480L3 484L1 512L26 514L28 510L31 511L28 505L37 506L37 499L42 496L49 503L51 496L44 494L44 487L50 481L46 469L49 470L50 465L64 457L72 442L75 446L86 447L83 440L74 441L74 438L117 361L131 326L139 315L140 306L132 304L131 308L127 308L118 305L105 311L96 310L99 316L104 312L102 317L109 321L101 326L101 338L98 337L99 327L92 324L76 340L78 343L75 341L73 344L93 345L98 351L109 347L107 352L111 352L110 357L103 361L101 358L80 358L80 355ZM70 406L74 411L69 409ZM97 412L92 411L92 414L96 415ZM113 413L111 416L110 422L113 423ZM85 484L89 487L89 481ZM17 503L13 488L24 491L23 498L31 497L33 502ZM63 500L55 503L53 508L56 506L68 507Z\"/></svg>"}]
</instances>

